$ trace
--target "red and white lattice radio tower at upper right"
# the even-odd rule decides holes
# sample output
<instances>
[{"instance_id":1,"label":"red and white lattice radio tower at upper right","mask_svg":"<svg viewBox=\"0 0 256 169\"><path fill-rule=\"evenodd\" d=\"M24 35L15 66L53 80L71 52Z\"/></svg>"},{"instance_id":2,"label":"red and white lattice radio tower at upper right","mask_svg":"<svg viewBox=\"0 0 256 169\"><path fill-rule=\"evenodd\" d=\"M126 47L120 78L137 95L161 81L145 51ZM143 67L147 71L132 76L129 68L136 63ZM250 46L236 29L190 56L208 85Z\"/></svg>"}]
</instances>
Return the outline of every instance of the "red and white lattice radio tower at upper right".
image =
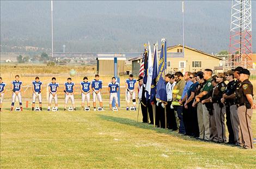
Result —
<instances>
[{"instance_id":1,"label":"red and white lattice radio tower at upper right","mask_svg":"<svg viewBox=\"0 0 256 169\"><path fill-rule=\"evenodd\" d=\"M228 67L252 68L251 0L232 0Z\"/></svg>"}]
</instances>

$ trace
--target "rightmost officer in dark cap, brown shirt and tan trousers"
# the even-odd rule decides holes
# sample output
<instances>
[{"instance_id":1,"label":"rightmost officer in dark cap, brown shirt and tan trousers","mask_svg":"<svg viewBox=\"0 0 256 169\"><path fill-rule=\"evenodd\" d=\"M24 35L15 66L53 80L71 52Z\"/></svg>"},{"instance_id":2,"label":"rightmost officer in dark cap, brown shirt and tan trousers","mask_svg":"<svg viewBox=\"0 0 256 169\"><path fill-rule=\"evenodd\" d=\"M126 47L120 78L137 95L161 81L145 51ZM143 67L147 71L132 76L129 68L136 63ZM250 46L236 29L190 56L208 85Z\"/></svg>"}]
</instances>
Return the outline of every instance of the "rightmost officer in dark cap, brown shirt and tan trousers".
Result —
<instances>
[{"instance_id":1,"label":"rightmost officer in dark cap, brown shirt and tan trousers","mask_svg":"<svg viewBox=\"0 0 256 169\"><path fill-rule=\"evenodd\" d=\"M235 93L239 104L237 104L237 111L239 116L243 148L253 148L253 133L252 133L252 113L256 105L253 103L253 85L249 82L250 72L243 69L240 72L241 86L239 92Z\"/></svg>"}]
</instances>

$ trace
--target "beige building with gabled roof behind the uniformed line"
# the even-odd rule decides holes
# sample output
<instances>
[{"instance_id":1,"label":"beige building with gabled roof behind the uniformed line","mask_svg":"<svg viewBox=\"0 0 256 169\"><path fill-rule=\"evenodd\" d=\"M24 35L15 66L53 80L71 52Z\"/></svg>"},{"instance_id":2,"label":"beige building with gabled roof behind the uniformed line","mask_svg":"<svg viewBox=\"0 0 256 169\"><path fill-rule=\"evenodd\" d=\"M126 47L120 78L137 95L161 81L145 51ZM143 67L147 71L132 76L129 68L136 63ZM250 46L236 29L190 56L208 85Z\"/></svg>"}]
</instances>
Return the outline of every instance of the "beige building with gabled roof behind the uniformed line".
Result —
<instances>
[{"instance_id":1,"label":"beige building with gabled roof behind the uniformed line","mask_svg":"<svg viewBox=\"0 0 256 169\"><path fill-rule=\"evenodd\" d=\"M220 62L222 59L216 57L215 55L211 55L197 49L185 46L183 57L182 50L182 45L167 47L167 72L194 72L204 70L205 68L215 70L217 67L220 66Z\"/></svg>"}]
</instances>

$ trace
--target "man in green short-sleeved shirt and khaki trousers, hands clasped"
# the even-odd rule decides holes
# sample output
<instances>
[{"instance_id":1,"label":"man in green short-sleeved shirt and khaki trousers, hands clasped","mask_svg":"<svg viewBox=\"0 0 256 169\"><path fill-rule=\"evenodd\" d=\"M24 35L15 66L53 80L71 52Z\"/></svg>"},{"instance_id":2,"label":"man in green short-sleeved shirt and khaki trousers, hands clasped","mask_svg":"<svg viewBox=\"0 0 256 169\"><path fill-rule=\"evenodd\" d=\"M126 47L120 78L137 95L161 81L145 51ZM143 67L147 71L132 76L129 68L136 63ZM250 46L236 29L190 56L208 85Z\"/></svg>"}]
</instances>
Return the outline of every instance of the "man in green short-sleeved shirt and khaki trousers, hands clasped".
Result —
<instances>
[{"instance_id":1,"label":"man in green short-sleeved shirt and khaki trousers, hands clasped","mask_svg":"<svg viewBox=\"0 0 256 169\"><path fill-rule=\"evenodd\" d=\"M205 69L204 70L204 79L206 80L202 92L199 93L199 95L197 95L196 98L196 102L201 102L203 101L206 97L207 94L212 90L212 70L210 69ZM202 118L198 118L198 123L203 123L204 126L204 132L200 131L200 133L204 133L204 135L199 136L200 139L204 139L206 141L209 141L210 138L210 115L209 115L209 111L207 110L205 104L202 104L202 109L203 109L203 119Z\"/></svg>"}]
</instances>

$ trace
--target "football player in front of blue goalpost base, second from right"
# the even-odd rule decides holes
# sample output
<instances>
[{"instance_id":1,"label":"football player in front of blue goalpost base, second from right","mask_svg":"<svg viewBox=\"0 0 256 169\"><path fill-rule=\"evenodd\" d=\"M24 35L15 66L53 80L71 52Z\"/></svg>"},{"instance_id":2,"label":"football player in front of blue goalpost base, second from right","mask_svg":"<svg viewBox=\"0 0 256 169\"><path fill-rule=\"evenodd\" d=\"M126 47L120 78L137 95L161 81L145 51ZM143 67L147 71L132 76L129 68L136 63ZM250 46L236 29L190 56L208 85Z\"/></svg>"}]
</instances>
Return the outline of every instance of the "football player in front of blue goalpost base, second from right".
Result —
<instances>
[{"instance_id":1,"label":"football player in front of blue goalpost base, second from right","mask_svg":"<svg viewBox=\"0 0 256 169\"><path fill-rule=\"evenodd\" d=\"M112 82L108 83L108 91L109 91L109 109L112 110L112 102L115 99L115 107L118 107L118 97L117 92L119 90L119 83L115 82L115 77L112 77Z\"/></svg>"}]
</instances>

